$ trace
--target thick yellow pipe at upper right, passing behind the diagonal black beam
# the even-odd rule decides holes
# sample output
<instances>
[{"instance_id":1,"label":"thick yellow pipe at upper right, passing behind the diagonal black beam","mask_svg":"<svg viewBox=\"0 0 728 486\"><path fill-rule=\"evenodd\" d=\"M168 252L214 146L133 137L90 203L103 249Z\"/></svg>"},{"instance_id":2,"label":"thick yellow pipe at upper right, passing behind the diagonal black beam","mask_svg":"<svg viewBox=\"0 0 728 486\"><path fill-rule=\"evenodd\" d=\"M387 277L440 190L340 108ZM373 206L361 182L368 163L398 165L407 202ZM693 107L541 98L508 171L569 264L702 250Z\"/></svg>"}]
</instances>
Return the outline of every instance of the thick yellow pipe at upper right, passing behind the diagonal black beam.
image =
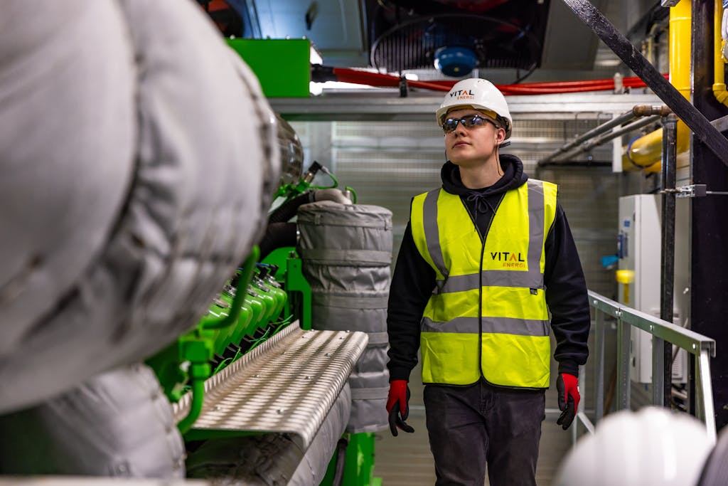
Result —
<instances>
[{"instance_id":1,"label":"thick yellow pipe at upper right, passing behind the diagonal black beam","mask_svg":"<svg viewBox=\"0 0 728 486\"><path fill-rule=\"evenodd\" d=\"M690 99L691 29L692 2L682 0L675 7L670 7L670 83L687 99ZM687 125L678 120L678 168L687 165L684 162L689 161L689 157L683 154L690 148L689 134ZM642 168L645 172L660 172L661 159L662 128L638 138L627 147L622 155L622 170L635 171Z\"/></svg>"}]
</instances>

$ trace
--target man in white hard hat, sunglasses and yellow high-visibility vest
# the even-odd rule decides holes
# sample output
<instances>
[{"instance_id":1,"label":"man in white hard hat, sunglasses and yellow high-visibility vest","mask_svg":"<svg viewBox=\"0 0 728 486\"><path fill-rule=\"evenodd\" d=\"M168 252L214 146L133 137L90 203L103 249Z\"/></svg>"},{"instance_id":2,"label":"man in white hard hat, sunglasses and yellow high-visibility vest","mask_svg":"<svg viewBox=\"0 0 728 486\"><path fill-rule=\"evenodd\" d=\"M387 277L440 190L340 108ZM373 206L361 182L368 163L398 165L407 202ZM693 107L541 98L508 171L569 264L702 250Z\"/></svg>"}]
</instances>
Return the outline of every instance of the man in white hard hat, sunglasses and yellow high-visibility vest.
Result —
<instances>
[{"instance_id":1,"label":"man in white hard hat, sunglasses and yellow high-visibility vest","mask_svg":"<svg viewBox=\"0 0 728 486\"><path fill-rule=\"evenodd\" d=\"M389 292L389 425L414 431L419 348L436 484L481 486L487 463L491 486L535 485L549 328L564 429L579 404L590 326L579 256L555 184L499 154L513 120L491 82L456 83L436 117L443 185L412 200Z\"/></svg>"}]
</instances>

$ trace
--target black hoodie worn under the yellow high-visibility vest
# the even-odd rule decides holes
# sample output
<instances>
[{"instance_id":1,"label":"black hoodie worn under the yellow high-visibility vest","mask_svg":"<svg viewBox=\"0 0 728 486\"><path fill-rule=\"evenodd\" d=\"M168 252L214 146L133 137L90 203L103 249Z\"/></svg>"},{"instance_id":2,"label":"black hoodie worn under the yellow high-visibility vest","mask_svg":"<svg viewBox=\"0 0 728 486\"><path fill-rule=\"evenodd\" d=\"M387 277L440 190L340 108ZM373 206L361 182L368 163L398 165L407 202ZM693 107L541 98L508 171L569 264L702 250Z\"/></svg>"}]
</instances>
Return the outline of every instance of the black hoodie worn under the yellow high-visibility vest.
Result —
<instances>
[{"instance_id":1,"label":"black hoodie worn under the yellow high-visibility vest","mask_svg":"<svg viewBox=\"0 0 728 486\"><path fill-rule=\"evenodd\" d=\"M500 162L504 175L491 187L483 189L464 187L459 168L452 162L446 162L440 171L443 189L460 196L483 236L486 236L505 192L520 187L529 179L523 173L523 163L518 157L501 154ZM544 286L551 329L556 339L554 358L558 361L558 372L578 375L578 365L585 364L589 355L589 302L577 247L566 215L558 203L545 251ZM409 380L410 372L417 364L420 320L434 288L435 270L419 254L408 223L389 289L387 367L390 381Z\"/></svg>"}]
</instances>

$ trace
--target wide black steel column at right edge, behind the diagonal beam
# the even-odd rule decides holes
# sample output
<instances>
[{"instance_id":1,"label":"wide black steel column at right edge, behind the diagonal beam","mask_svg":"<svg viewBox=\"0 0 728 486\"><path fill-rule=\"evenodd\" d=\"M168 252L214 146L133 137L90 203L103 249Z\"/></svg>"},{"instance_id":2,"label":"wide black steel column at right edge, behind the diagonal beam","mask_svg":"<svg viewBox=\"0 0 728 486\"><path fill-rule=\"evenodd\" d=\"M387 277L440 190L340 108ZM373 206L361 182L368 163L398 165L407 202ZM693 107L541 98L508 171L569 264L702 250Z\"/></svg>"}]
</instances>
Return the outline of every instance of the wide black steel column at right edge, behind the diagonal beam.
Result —
<instances>
[{"instance_id":1,"label":"wide black steel column at right edge, behind the diagonal beam","mask_svg":"<svg viewBox=\"0 0 728 486\"><path fill-rule=\"evenodd\" d=\"M683 0L684 1L684 0ZM693 104L708 119L728 109L713 95L713 0L693 0ZM711 191L728 191L728 169L697 138L692 139L692 182ZM716 340L711 361L716 427L728 424L728 211L724 196L692 200L690 312L692 330ZM692 385L695 375L691 373ZM692 389L692 386L691 386Z\"/></svg>"}]
</instances>

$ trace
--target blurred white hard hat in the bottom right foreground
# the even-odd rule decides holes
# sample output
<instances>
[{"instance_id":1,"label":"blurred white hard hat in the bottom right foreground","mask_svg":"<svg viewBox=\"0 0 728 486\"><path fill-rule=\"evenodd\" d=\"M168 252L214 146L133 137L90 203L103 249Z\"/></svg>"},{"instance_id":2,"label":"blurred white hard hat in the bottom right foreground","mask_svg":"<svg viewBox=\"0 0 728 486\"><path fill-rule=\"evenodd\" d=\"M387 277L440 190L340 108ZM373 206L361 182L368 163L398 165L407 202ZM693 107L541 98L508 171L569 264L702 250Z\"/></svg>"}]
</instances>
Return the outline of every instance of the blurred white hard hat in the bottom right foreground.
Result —
<instances>
[{"instance_id":1,"label":"blurred white hard hat in the bottom right foreground","mask_svg":"<svg viewBox=\"0 0 728 486\"><path fill-rule=\"evenodd\" d=\"M713 442L700 420L662 407L608 415L571 448L555 486L695 485Z\"/></svg>"}]
</instances>

